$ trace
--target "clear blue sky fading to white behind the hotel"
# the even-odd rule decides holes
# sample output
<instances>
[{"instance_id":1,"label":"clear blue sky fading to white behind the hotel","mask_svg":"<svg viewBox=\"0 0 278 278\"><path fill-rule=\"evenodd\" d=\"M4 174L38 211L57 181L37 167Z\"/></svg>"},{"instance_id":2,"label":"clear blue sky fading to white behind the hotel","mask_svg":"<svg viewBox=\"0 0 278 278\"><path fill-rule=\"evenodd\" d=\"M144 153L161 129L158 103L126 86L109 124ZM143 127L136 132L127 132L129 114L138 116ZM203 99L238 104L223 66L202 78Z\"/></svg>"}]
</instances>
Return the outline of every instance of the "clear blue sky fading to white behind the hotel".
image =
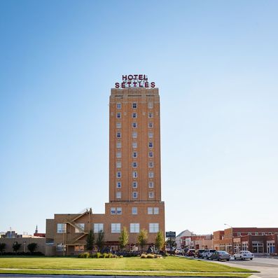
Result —
<instances>
[{"instance_id":1,"label":"clear blue sky fading to white behind the hotel","mask_svg":"<svg viewBox=\"0 0 278 278\"><path fill-rule=\"evenodd\" d=\"M0 230L108 201L109 95L160 88L166 229L278 226L277 1L0 1Z\"/></svg>"}]
</instances>

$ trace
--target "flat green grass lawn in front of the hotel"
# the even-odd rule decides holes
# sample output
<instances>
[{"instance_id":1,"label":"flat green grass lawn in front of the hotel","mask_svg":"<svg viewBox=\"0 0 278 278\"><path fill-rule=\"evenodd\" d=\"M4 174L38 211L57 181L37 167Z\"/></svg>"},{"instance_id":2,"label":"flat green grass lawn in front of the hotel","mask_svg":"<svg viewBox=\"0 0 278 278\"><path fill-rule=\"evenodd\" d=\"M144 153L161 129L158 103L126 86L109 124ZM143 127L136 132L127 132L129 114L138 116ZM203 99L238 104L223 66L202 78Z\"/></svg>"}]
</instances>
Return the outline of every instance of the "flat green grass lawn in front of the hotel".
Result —
<instances>
[{"instance_id":1,"label":"flat green grass lawn in front of the hotel","mask_svg":"<svg viewBox=\"0 0 278 278\"><path fill-rule=\"evenodd\" d=\"M0 257L0 273L249 277L248 272L251 270L177 257L157 259Z\"/></svg>"}]
</instances>

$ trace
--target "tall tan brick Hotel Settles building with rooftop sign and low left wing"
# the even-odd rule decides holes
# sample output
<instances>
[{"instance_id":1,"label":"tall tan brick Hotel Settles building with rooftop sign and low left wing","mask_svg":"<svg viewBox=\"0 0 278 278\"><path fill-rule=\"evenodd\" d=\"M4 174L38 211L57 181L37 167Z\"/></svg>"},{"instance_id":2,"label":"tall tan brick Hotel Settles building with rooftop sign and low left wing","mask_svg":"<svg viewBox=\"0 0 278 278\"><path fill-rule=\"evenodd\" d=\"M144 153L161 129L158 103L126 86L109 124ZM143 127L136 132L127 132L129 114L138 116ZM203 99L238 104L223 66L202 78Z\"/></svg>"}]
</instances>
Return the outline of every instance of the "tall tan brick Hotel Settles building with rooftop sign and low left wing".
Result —
<instances>
[{"instance_id":1,"label":"tall tan brick Hotel Settles building with rooftop sign and low left wing","mask_svg":"<svg viewBox=\"0 0 278 278\"><path fill-rule=\"evenodd\" d=\"M148 231L148 244L159 230L165 234L165 205L161 201L160 97L145 75L123 75L111 89L109 102L109 202L105 214L55 214L46 220L49 254L84 250L90 229L104 230L106 246L118 248L120 231L129 232L129 248L138 233Z\"/></svg>"}]
</instances>

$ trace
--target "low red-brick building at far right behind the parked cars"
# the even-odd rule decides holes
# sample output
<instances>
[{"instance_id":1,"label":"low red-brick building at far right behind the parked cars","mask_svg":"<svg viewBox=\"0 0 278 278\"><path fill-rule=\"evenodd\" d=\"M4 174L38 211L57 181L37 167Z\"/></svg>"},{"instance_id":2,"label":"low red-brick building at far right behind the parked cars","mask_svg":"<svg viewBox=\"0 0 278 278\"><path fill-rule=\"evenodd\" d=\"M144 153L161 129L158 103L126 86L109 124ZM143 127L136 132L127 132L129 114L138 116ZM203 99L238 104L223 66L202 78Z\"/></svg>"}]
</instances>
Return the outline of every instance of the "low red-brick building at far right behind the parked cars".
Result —
<instances>
[{"instance_id":1,"label":"low red-brick building at far right behind the parked cars","mask_svg":"<svg viewBox=\"0 0 278 278\"><path fill-rule=\"evenodd\" d=\"M214 249L237 253L241 250L252 253L277 255L278 228L228 228L214 232Z\"/></svg>"}]
</instances>

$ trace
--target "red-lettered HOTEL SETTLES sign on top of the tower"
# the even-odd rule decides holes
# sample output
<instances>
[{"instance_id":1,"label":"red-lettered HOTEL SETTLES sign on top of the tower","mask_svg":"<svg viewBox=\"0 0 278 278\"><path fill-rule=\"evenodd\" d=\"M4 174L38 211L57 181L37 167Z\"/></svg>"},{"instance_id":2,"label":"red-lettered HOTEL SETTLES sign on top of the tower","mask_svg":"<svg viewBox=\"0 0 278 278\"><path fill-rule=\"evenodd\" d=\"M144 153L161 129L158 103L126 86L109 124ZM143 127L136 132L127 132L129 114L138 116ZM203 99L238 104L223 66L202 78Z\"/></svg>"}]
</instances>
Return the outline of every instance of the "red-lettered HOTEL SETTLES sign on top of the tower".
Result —
<instances>
[{"instance_id":1,"label":"red-lettered HOTEL SETTLES sign on top of the tower","mask_svg":"<svg viewBox=\"0 0 278 278\"><path fill-rule=\"evenodd\" d=\"M146 74L130 74L123 75L122 81L115 83L115 88L155 88L155 83L149 82Z\"/></svg>"}]
</instances>

